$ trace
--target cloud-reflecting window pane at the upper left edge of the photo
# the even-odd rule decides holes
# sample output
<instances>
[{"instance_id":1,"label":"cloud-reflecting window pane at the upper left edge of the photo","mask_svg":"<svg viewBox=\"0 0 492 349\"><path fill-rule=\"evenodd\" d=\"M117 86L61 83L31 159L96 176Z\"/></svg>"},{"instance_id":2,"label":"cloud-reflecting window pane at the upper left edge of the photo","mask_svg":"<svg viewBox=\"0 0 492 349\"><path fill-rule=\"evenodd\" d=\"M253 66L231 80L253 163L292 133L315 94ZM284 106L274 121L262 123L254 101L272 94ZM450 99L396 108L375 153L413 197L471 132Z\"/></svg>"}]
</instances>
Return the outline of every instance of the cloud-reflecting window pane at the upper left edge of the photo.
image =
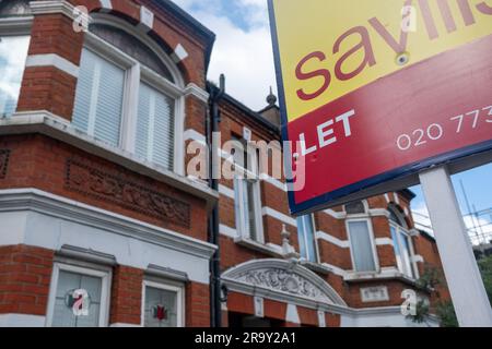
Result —
<instances>
[{"instance_id":1,"label":"cloud-reflecting window pane at the upper left edge of the photo","mask_svg":"<svg viewBox=\"0 0 492 349\"><path fill-rule=\"evenodd\" d=\"M0 37L0 118L17 108L28 46L28 36Z\"/></svg>"}]
</instances>

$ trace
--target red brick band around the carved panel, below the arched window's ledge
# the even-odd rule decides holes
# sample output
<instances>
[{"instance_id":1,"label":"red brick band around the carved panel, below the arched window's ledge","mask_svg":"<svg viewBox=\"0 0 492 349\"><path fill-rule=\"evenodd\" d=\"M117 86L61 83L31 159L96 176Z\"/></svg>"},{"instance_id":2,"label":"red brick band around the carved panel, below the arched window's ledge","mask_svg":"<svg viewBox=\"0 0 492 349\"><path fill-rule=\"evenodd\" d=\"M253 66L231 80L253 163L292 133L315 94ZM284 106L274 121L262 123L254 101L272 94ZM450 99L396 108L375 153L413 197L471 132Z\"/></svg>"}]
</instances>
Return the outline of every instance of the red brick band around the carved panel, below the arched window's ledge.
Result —
<instances>
[{"instance_id":1,"label":"red brick band around the carved panel, below the arched window's ledge","mask_svg":"<svg viewBox=\"0 0 492 349\"><path fill-rule=\"evenodd\" d=\"M9 169L7 176L0 180L0 189L36 188L197 239L207 240L207 207L204 201L200 198L47 136L4 136L0 141L0 148L11 152ZM91 171L97 170L99 174L114 176L121 181L130 182L144 190L152 190L152 192L159 194L165 194L173 200L188 204L190 207L189 226L180 225L183 221L178 219L166 219L164 215L154 215L152 209L139 210L133 209L132 206L124 206L120 204L119 194L112 193L115 189L107 189L103 192L97 190L98 195L95 195L92 190L70 189L67 186L68 161L73 158L82 159L82 163L92 169ZM81 178L81 180L87 179ZM95 188L94 185L97 186L96 183L93 183L91 188ZM112 200L108 200L107 194Z\"/></svg>"}]
</instances>

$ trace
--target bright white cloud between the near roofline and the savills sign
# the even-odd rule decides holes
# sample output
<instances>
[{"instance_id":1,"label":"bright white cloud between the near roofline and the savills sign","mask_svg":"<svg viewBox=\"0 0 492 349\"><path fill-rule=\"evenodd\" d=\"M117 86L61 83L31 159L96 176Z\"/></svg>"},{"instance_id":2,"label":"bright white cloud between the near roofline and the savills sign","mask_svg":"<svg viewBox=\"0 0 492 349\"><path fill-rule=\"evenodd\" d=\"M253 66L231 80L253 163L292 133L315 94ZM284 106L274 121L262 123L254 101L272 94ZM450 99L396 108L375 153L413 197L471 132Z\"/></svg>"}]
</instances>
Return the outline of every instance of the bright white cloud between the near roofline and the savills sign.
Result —
<instances>
[{"instance_id":1,"label":"bright white cloud between the near roofline and the savills sign","mask_svg":"<svg viewBox=\"0 0 492 349\"><path fill-rule=\"evenodd\" d=\"M226 76L227 93L254 110L266 107L270 86L277 91L266 0L236 0L244 7L242 28L221 14L221 1L174 0L216 35L209 80Z\"/></svg>"}]
</instances>

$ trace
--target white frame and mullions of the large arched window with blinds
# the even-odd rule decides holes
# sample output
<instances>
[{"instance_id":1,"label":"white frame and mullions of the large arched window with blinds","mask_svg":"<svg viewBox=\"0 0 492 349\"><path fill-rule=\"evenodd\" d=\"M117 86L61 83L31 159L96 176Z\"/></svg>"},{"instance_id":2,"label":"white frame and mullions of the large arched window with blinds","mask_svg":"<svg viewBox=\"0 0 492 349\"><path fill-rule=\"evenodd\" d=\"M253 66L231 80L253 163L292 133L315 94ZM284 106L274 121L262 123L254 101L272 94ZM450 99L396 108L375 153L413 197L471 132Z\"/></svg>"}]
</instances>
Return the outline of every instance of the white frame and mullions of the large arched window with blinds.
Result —
<instances>
[{"instance_id":1,"label":"white frame and mullions of the large arched window with blinds","mask_svg":"<svg viewBox=\"0 0 492 349\"><path fill-rule=\"evenodd\" d=\"M162 59L163 64L169 70L175 83L153 72L151 69L142 65L138 60L125 53L112 44L99 38L97 35L85 33L84 48L93 51L97 56L124 69L126 72L124 83L124 100L121 115L120 140L117 148L134 155L136 133L138 118L138 98L140 83L147 83L157 92L174 99L174 148L173 148L173 168L169 170L177 174L185 174L185 151L184 151L184 132L185 132L185 82L181 73L175 67L171 58L156 45L152 39L138 33L138 31L126 23L124 20L104 14L93 15L93 22L96 24L105 24L114 26L127 32L138 40L153 50L155 55ZM144 160L145 161L145 160ZM151 163L149 159L147 160ZM151 163L154 164L154 163ZM154 164L156 165L156 164Z\"/></svg>"}]
</instances>

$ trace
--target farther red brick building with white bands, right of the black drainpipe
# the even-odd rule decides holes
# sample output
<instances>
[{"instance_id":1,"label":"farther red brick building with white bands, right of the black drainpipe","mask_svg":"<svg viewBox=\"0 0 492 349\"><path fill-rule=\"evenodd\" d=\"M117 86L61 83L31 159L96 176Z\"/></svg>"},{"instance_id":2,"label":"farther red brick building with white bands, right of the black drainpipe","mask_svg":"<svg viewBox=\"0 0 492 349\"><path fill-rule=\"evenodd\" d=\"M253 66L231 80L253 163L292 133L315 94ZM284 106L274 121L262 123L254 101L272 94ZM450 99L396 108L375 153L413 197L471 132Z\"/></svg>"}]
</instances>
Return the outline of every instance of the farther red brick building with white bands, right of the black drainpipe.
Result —
<instances>
[{"instance_id":1,"label":"farther red brick building with white bands, right of the black drainpipe","mask_svg":"<svg viewBox=\"0 0 492 349\"><path fill-rule=\"evenodd\" d=\"M268 101L255 112L226 95L220 103L222 141L279 141L276 97ZM225 324L415 326L401 313L402 297L415 290L434 305L435 293L422 292L417 280L442 266L434 239L414 228L414 194L387 193L294 218L285 181L272 171L270 166L257 179L221 180ZM449 297L445 286L440 297ZM435 318L430 323L437 325Z\"/></svg>"}]
</instances>

